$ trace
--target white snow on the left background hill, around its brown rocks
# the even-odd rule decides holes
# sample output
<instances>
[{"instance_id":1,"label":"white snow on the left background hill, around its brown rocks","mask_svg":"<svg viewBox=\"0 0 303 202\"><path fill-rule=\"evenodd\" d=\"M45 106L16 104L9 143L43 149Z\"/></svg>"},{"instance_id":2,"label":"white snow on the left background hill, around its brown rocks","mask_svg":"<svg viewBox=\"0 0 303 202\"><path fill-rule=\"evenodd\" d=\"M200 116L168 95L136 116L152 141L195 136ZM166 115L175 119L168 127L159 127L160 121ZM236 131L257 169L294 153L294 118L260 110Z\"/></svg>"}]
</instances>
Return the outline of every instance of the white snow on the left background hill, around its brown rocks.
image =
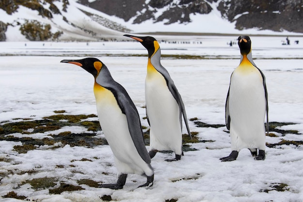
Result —
<instances>
[{"instance_id":1,"label":"white snow on the left background hill, around its brown rocks","mask_svg":"<svg viewBox=\"0 0 303 202\"><path fill-rule=\"evenodd\" d=\"M115 39L117 36L122 36L123 32L109 29L107 27L115 26L115 28L120 27L122 30L125 29L123 26L117 25L115 22L111 22L106 19L103 19L102 22L98 22L102 17L106 17L106 14L96 12L95 10L78 4L73 0L69 1L66 12L63 11L61 1L54 1L53 3L61 13L52 14L52 18L41 16L38 11L31 10L24 6L19 6L17 12L13 14L7 14L4 10L0 9L1 21L9 24L9 26L7 26L7 31L5 32L6 41L28 41L25 36L20 33L19 29L20 25L30 20L37 20L40 23L49 24L52 28L51 32L63 32L59 37L59 40L69 41L98 41ZM49 7L49 3L41 5L43 5L45 9L48 9ZM86 13L83 11L86 11Z\"/></svg>"}]
</instances>

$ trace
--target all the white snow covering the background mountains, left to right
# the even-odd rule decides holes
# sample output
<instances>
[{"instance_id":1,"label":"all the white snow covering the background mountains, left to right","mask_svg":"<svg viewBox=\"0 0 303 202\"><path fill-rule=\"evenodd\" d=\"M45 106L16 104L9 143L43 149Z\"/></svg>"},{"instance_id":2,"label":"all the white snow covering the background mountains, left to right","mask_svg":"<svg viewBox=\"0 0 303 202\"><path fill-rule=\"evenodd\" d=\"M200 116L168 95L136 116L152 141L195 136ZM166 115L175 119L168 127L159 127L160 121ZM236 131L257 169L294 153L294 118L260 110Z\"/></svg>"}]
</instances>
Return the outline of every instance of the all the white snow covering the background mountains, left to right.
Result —
<instances>
[{"instance_id":1,"label":"all the white snow covering the background mountains, left to right","mask_svg":"<svg viewBox=\"0 0 303 202\"><path fill-rule=\"evenodd\" d=\"M39 1L40 2L40 1ZM49 1L51 2L51 1ZM108 15L92 9L88 6L77 3L77 0L67 1L66 8L63 6L62 0L40 2L43 8L50 12L52 17L42 16L38 10L32 10L28 7L20 5L16 12L7 14L0 9L1 22L6 27L2 30L5 39L2 41L28 41L28 39L21 34L20 27L28 21L36 20L44 25L50 25L50 32L61 33L58 38L49 38L50 40L59 41L107 41L107 40L125 40L122 35L124 33L140 33L149 32L180 32L192 34L273 34L273 35L298 35L298 33L291 33L288 31L274 32L272 30L255 29L235 29L236 21L229 22L222 18L221 13L216 9L217 2L212 2L209 5L212 11L209 14L190 14L191 21L188 23L170 23L167 25L167 20L154 22L149 19L142 21L140 24L134 24L135 17L128 21L119 18L115 15ZM92 2L92 1L91 1ZM50 9L51 5L58 8L58 12ZM166 12L167 7L160 8L154 11L154 15L160 16ZM143 11L140 11L141 13ZM140 12L138 14L140 14ZM237 15L237 18L241 16ZM136 16L137 17L137 16ZM1 31L0 31L1 32ZM39 39L39 38L38 38Z\"/></svg>"}]
</instances>

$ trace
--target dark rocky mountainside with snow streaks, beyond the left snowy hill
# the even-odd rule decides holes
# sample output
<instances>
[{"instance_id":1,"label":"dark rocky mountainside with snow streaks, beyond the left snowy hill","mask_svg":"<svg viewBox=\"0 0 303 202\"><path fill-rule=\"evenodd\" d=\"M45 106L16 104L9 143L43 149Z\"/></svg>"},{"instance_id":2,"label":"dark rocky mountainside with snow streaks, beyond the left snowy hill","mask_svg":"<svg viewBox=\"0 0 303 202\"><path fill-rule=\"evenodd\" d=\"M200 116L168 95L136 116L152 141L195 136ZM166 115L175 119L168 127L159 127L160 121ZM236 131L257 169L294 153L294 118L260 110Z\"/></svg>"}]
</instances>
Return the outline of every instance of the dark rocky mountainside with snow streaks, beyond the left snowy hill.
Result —
<instances>
[{"instance_id":1,"label":"dark rocky mountainside with snow streaks, beyond the left snowy hill","mask_svg":"<svg viewBox=\"0 0 303 202\"><path fill-rule=\"evenodd\" d=\"M152 19L165 24L191 23L191 15L218 10L221 17L235 22L236 29L270 29L303 32L302 0L78 0L125 22L140 24ZM148 3L146 3L148 2Z\"/></svg>"}]
</instances>

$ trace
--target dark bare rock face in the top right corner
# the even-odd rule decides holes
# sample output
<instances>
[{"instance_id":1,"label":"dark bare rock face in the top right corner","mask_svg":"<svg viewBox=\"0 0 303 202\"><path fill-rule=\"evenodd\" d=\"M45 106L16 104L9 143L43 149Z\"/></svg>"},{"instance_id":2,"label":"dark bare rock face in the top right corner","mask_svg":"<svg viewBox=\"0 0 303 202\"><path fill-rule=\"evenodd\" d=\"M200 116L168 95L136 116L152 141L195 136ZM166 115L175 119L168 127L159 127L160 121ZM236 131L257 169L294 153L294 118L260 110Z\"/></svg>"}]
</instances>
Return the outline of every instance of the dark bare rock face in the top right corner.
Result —
<instances>
[{"instance_id":1,"label":"dark bare rock face in the top right corner","mask_svg":"<svg viewBox=\"0 0 303 202\"><path fill-rule=\"evenodd\" d=\"M237 29L271 29L303 32L302 0L221 1L218 10Z\"/></svg>"}]
</instances>

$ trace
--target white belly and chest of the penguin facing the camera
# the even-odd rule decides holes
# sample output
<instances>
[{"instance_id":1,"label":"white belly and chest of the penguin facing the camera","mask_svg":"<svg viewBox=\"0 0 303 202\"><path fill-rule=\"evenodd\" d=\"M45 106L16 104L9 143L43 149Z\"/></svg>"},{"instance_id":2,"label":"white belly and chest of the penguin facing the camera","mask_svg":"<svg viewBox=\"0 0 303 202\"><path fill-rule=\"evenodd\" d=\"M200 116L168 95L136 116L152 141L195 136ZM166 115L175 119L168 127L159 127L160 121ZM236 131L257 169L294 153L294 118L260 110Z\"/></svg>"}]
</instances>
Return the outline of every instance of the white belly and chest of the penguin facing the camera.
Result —
<instances>
[{"instance_id":1,"label":"white belly and chest of the penguin facing the camera","mask_svg":"<svg viewBox=\"0 0 303 202\"><path fill-rule=\"evenodd\" d=\"M240 65L232 73L229 88L230 133L237 149L265 146L265 111L261 73L252 65Z\"/></svg>"}]
</instances>

